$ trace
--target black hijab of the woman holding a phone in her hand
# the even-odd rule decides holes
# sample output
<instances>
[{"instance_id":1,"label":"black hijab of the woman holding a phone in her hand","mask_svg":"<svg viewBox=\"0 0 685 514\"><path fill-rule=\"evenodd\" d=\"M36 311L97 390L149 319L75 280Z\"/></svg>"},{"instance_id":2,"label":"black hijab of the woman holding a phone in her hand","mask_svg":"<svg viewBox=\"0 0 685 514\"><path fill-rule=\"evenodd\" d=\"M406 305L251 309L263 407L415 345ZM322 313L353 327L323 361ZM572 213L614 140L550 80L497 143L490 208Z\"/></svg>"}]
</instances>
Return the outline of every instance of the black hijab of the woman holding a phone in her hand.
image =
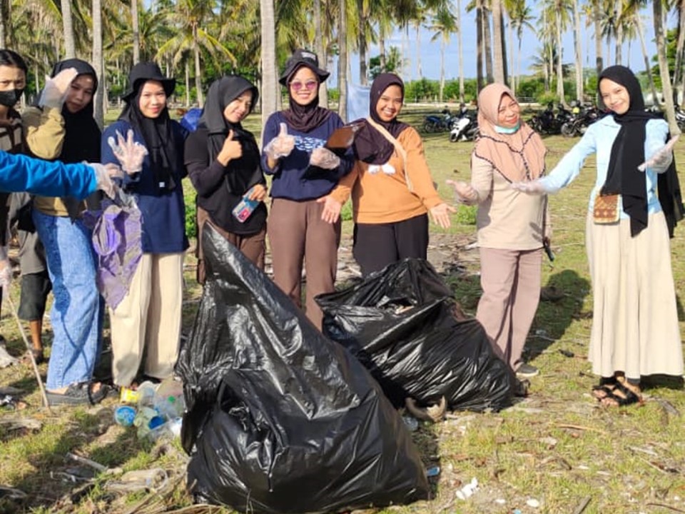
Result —
<instances>
[{"instance_id":1,"label":"black hijab of the woman holding a phone in her hand","mask_svg":"<svg viewBox=\"0 0 685 514\"><path fill-rule=\"evenodd\" d=\"M255 104L257 104L259 92L248 79L238 75L223 76L214 81L209 88L207 101L202 110L198 126L204 127L209 133L207 149L210 162L216 158L221 148L223 148L223 143L229 131L233 130L233 137L235 139L254 138L252 133L243 130L243 126L240 123L232 124L223 117L223 111L226 109L226 106L245 93L245 91L252 91L253 107L250 109L251 112Z\"/></svg>"}]
</instances>

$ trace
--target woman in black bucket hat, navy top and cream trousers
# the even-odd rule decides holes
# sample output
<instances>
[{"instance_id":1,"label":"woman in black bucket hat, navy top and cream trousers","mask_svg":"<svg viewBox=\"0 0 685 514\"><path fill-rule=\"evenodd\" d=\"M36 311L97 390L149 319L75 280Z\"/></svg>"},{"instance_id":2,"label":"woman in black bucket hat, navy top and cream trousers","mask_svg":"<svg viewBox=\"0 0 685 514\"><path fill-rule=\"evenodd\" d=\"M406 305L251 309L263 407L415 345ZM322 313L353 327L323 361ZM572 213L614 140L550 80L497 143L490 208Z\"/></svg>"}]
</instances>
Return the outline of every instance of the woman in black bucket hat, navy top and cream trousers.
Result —
<instances>
[{"instance_id":1,"label":"woman in black bucket hat, navy top and cream trousers","mask_svg":"<svg viewBox=\"0 0 685 514\"><path fill-rule=\"evenodd\" d=\"M116 385L131 385L146 350L145 373L171 376L181 338L183 253L188 248L181 179L183 129L166 106L175 79L163 76L154 63L138 63L128 76L121 116L106 129L103 162L117 162L108 142L116 133L133 130L148 150L141 169L125 169L123 188L136 199L142 214L141 257L121 303L110 311L112 373Z\"/></svg>"}]
</instances>

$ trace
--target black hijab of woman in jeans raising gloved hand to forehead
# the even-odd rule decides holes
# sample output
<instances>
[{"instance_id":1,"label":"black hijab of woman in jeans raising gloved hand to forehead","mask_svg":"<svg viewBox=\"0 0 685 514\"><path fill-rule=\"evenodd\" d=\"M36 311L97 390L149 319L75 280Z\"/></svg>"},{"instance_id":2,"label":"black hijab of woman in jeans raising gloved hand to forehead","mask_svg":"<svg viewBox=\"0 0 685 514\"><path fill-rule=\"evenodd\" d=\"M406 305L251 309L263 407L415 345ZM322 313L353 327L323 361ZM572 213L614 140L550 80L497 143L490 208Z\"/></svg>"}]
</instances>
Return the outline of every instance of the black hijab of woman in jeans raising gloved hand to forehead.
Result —
<instances>
[{"instance_id":1,"label":"black hijab of woman in jeans raising gloved hand to forehead","mask_svg":"<svg viewBox=\"0 0 685 514\"><path fill-rule=\"evenodd\" d=\"M78 76L89 75L93 77L93 98L98 90L98 76L93 66L81 59L66 59L59 61L52 69L54 77L60 71L76 68ZM82 161L100 162L100 127L93 119L93 99L83 109L71 113L66 104L62 107L64 118L64 143L59 154L59 161L66 163L78 163Z\"/></svg>"}]
</instances>

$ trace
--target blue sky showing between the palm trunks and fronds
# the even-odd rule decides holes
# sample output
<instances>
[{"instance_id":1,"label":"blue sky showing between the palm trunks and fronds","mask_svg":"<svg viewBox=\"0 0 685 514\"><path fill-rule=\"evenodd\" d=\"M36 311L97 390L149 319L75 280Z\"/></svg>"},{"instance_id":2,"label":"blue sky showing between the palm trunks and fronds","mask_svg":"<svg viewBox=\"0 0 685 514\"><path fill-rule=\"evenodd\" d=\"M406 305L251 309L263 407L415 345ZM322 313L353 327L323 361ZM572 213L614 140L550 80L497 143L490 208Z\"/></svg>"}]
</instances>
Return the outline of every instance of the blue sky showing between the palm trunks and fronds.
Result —
<instances>
[{"instance_id":1,"label":"blue sky showing between the palm trunks and fronds","mask_svg":"<svg viewBox=\"0 0 685 514\"><path fill-rule=\"evenodd\" d=\"M462 45L463 45L463 56L464 56L464 75L467 78L475 78L476 76L476 20L475 11L467 13L464 7L467 1L462 0L462 23L460 27L462 29ZM456 1L455 1L456 5ZM456 11L456 7L455 7ZM539 15L539 10L534 8L534 16L536 20L532 21L532 25L537 25L537 16ZM651 8L641 11L641 19L643 22L645 43L647 46L647 51L650 55L656 54L656 44L652 41L654 39L654 24L652 22ZM584 18L582 18L582 24L584 24ZM667 26L669 28L674 28L676 26L676 20L674 19L674 14L669 16L667 20ZM440 79L440 41L430 41L432 37L431 31L428 29L422 29L420 35L420 44L417 45L417 37L415 29L410 29L409 32L409 46L410 51L405 53L405 57L408 57L408 62L405 63L405 69L402 71L402 79L415 80L417 79L417 46L420 49L421 56L421 68L422 76L427 79ZM509 52L509 40L507 35L507 52ZM457 44L458 36L453 34L450 43L447 44L445 49L445 78L446 79L457 79L459 77L459 50ZM517 53L518 41L514 35L514 52ZM582 31L582 51L583 54L586 53L586 49L589 49L589 54L587 54L586 59L583 62L584 67L594 68L594 28L591 26L588 29L583 27ZM390 46L397 46L398 49L402 49L402 34L400 31L395 31L392 36L386 40L385 48L390 48ZM406 42L405 42L406 46ZM567 33L562 36L562 46L563 46L563 62L564 64L572 64L574 62L574 51L573 51L573 34L572 31L567 31ZM612 64L615 52L615 43L612 44ZM534 56L539 54L539 49L542 47L537 35L533 34L530 29L524 29L523 39L522 39L522 52L521 52L521 74L529 74L529 66L532 64ZM607 44L606 41L602 43L602 52L604 54L604 62L607 63ZM377 56L379 54L377 45L373 45L370 51L367 53L367 59L372 56ZM641 46L639 39L631 41L630 49L627 43L623 47L623 62L626 66L630 66L636 71L643 71L644 69L644 59L642 58ZM359 56L357 54L352 54L351 57L351 69L352 69L352 83L359 84ZM510 59L510 58L509 58ZM331 76L329 79L329 84L337 84L337 62L331 67ZM511 70L509 70L511 72Z\"/></svg>"}]
</instances>

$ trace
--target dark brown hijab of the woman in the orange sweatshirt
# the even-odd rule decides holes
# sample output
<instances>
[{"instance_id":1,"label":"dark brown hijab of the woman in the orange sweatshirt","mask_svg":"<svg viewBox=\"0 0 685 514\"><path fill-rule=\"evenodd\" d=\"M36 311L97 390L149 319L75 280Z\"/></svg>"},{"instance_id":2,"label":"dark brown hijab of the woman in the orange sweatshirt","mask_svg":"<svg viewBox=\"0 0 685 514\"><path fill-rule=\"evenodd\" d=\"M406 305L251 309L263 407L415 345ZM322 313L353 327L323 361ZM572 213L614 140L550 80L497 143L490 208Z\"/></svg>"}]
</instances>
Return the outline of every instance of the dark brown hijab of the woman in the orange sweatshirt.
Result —
<instances>
[{"instance_id":1,"label":"dark brown hijab of the woman in the orange sweatshirt","mask_svg":"<svg viewBox=\"0 0 685 514\"><path fill-rule=\"evenodd\" d=\"M397 138L400 132L405 130L408 125L397 121L397 118L390 121L382 121L376 112L378 100L390 86L400 86L402 101L404 101L405 84L402 82L402 79L395 74L380 74L371 84L369 114L373 121L390 132L392 137ZM365 123L362 129L357 132L354 148L357 159L369 164L385 164L390 159L390 156L392 156L392 153L395 152L395 146L368 123Z\"/></svg>"}]
</instances>

